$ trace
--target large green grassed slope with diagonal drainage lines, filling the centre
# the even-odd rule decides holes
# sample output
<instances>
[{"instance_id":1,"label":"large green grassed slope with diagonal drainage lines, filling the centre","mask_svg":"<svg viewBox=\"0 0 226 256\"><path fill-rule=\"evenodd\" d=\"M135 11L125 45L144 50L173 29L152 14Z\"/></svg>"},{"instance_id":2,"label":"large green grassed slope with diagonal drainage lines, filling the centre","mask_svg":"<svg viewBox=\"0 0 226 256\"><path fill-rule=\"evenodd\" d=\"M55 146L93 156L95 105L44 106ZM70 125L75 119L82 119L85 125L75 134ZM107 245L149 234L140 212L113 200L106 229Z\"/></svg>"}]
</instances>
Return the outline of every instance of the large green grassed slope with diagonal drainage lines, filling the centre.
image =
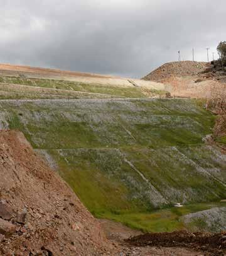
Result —
<instances>
[{"instance_id":1,"label":"large green grassed slope with diagonal drainage lines, filling the centre","mask_svg":"<svg viewBox=\"0 0 226 256\"><path fill-rule=\"evenodd\" d=\"M215 206L197 202L225 197L226 156L204 143L215 117L202 105L173 99L1 100L0 127L23 131L95 216L169 231L183 225L183 214ZM170 207L176 202L190 206L175 213ZM151 218L159 208L167 210Z\"/></svg>"}]
</instances>

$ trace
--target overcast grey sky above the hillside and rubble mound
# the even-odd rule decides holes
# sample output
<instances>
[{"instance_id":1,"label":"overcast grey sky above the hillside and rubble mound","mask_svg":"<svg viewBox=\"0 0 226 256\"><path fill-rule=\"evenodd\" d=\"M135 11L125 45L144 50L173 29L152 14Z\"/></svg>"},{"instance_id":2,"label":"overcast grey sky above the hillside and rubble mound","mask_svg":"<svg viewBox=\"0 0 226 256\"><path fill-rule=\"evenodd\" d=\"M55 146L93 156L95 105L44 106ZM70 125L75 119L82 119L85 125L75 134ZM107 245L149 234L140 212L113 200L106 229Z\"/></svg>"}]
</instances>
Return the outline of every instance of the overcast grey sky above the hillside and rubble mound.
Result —
<instances>
[{"instance_id":1,"label":"overcast grey sky above the hillside and rubble mound","mask_svg":"<svg viewBox=\"0 0 226 256\"><path fill-rule=\"evenodd\" d=\"M225 0L0 0L0 62L140 78L207 61L226 40ZM217 53L215 54L217 57Z\"/></svg>"}]
</instances>

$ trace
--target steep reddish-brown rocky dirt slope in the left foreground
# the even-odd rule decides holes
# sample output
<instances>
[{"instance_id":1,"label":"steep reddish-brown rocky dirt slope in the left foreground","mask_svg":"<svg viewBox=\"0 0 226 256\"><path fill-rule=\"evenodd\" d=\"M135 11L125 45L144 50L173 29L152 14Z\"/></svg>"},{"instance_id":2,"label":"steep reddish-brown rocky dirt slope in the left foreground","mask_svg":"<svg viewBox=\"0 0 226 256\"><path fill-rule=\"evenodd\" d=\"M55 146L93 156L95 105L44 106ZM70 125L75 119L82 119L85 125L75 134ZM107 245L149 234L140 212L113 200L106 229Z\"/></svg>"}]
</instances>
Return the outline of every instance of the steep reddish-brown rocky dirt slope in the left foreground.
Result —
<instances>
[{"instance_id":1,"label":"steep reddish-brown rocky dirt slope in the left foreground","mask_svg":"<svg viewBox=\"0 0 226 256\"><path fill-rule=\"evenodd\" d=\"M0 255L114 255L99 223L21 132L0 132L0 177Z\"/></svg>"}]
</instances>

